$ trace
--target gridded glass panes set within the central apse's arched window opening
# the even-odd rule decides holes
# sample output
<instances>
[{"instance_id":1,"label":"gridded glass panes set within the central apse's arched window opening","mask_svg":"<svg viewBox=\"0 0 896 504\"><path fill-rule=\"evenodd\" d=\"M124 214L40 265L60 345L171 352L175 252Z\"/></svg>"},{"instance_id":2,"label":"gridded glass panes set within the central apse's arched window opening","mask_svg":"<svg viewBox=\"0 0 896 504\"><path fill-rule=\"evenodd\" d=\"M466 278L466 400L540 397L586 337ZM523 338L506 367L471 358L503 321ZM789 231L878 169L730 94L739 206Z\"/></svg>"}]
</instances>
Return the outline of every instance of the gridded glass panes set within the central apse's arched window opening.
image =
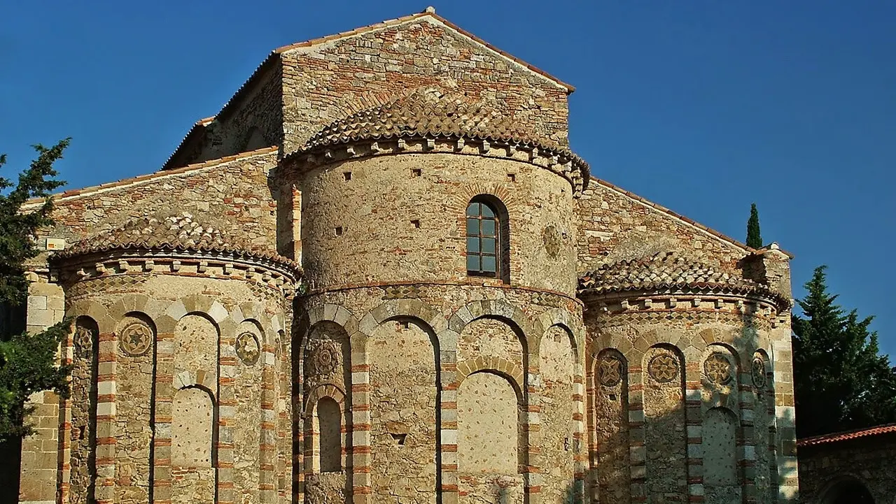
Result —
<instances>
[{"instance_id":1,"label":"gridded glass panes set within the central apse's arched window opening","mask_svg":"<svg viewBox=\"0 0 896 504\"><path fill-rule=\"evenodd\" d=\"M467 274L500 278L501 222L495 208L484 201L467 207Z\"/></svg>"}]
</instances>

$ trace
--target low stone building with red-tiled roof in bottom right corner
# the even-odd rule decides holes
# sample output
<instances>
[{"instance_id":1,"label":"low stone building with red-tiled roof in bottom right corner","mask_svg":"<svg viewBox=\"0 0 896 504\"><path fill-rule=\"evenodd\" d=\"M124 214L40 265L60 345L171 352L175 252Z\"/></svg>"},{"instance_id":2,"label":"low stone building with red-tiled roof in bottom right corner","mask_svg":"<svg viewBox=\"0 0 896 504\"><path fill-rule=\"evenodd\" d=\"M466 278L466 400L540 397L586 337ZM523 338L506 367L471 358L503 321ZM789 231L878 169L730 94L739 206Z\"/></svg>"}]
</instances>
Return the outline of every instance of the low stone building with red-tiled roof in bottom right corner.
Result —
<instances>
[{"instance_id":1,"label":"low stone building with red-tiled roof in bottom right corner","mask_svg":"<svg viewBox=\"0 0 896 504\"><path fill-rule=\"evenodd\" d=\"M800 503L896 504L896 424L804 438Z\"/></svg>"}]
</instances>

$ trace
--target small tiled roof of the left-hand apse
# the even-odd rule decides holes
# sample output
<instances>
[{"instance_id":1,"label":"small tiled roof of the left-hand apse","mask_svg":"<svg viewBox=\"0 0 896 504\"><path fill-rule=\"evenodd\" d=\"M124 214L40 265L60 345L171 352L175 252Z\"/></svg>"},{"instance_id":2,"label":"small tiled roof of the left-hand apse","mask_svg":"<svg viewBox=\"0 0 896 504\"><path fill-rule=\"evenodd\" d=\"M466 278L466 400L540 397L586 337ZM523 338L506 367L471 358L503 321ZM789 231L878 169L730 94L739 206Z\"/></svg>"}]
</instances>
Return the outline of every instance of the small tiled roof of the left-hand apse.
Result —
<instances>
[{"instance_id":1,"label":"small tiled roof of the left-hand apse","mask_svg":"<svg viewBox=\"0 0 896 504\"><path fill-rule=\"evenodd\" d=\"M220 228L203 226L188 213L169 217L132 218L123 226L73 243L71 247L56 252L52 259L61 261L83 254L113 250L235 252L248 257L280 262L291 269L299 269L298 265L288 258L245 240L228 236Z\"/></svg>"}]
</instances>

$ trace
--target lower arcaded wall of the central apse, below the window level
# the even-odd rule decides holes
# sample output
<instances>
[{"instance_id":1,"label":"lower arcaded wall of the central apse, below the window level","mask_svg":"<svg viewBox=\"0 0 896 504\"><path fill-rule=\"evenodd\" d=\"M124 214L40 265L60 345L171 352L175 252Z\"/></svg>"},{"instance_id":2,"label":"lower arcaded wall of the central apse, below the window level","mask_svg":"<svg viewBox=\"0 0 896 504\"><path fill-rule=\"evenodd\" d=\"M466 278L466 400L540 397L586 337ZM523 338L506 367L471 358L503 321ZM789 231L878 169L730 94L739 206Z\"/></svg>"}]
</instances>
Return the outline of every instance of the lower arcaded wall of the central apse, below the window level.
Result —
<instances>
[{"instance_id":1,"label":"lower arcaded wall of the central apse, below the window level","mask_svg":"<svg viewBox=\"0 0 896 504\"><path fill-rule=\"evenodd\" d=\"M553 503L576 487L584 471L583 380L573 350L582 342L579 304L500 286L402 289L346 288L297 300L299 345L332 324L350 340L354 444L346 477L355 502L433 502L441 491L445 504L501 495L521 502L524 493ZM544 337L550 343L542 345ZM298 365L318 361L306 356ZM302 446L315 445L307 439L315 432L302 435ZM332 501L322 500L328 474L316 472L311 456L306 448L298 462L299 499ZM564 461L559 477L557 461Z\"/></svg>"}]
</instances>

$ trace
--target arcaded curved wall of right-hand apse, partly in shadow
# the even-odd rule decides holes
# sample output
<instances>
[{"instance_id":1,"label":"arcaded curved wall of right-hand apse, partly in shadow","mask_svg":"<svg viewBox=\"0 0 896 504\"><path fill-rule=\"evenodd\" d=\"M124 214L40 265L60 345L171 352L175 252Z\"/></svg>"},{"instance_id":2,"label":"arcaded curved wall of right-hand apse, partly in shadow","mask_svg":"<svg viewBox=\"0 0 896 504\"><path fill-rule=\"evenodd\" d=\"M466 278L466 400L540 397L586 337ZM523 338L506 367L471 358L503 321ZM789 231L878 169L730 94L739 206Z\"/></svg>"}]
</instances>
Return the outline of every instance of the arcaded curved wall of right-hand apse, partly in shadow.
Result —
<instances>
[{"instance_id":1,"label":"arcaded curved wall of right-hand apse, partly in shadow","mask_svg":"<svg viewBox=\"0 0 896 504\"><path fill-rule=\"evenodd\" d=\"M778 482L768 478L777 461L756 457L757 449L769 450L757 439L772 435L773 417L754 415L771 366L754 360L771 347L778 320L733 300L682 295L593 303L585 323L590 403L599 406L591 421L597 500L615 502L627 491L632 502L777 501ZM611 461L627 467L610 469Z\"/></svg>"}]
</instances>

